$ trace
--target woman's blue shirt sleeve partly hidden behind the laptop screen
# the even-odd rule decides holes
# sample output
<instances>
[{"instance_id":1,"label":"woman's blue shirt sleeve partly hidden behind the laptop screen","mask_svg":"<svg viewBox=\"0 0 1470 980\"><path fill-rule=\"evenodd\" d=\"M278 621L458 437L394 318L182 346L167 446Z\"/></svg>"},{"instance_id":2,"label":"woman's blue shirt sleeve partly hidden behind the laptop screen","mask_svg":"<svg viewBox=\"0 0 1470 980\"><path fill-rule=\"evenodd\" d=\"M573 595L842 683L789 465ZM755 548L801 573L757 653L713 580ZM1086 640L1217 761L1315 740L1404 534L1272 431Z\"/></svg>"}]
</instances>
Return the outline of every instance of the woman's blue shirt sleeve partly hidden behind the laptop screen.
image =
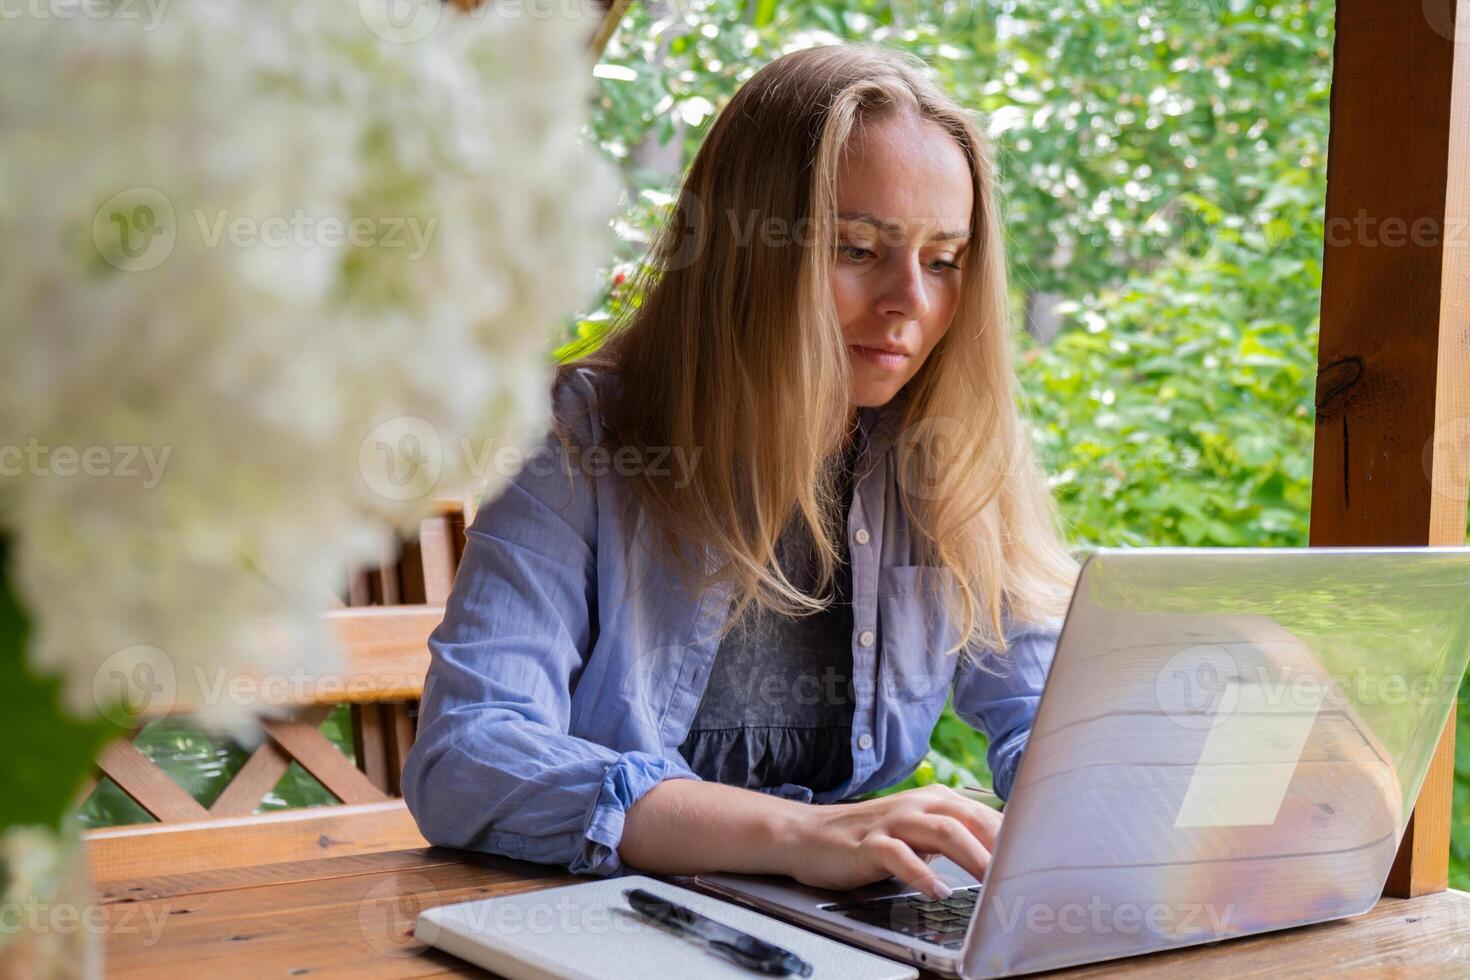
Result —
<instances>
[{"instance_id":1,"label":"woman's blue shirt sleeve partly hidden behind the laptop screen","mask_svg":"<svg viewBox=\"0 0 1470 980\"><path fill-rule=\"evenodd\" d=\"M1030 739L1041 689L1057 652L1060 623L1007 633L1007 651L963 657L956 670L954 713L989 739L985 760L995 795L1010 798L1016 768Z\"/></svg>"}]
</instances>

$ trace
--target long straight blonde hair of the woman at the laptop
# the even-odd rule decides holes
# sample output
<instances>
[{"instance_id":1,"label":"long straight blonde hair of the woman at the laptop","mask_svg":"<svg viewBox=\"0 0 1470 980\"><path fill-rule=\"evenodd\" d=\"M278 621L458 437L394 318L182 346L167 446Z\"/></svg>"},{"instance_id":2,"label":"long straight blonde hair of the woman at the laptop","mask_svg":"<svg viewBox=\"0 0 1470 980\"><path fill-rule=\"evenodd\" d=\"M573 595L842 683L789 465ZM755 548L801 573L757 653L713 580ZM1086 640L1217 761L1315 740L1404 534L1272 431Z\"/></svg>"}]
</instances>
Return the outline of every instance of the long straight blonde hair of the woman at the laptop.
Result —
<instances>
[{"instance_id":1,"label":"long straight blonde hair of the woman at the laptop","mask_svg":"<svg viewBox=\"0 0 1470 980\"><path fill-rule=\"evenodd\" d=\"M954 138L975 190L954 319L907 385L897 444L923 561L953 573L944 608L961 627L945 652L1004 651L1005 619L1042 623L1070 598L1076 563L1016 407L991 150L926 71L906 53L833 44L756 72L713 122L635 275L642 304L557 375L619 375L604 419L622 445L700 450L682 485L644 472L631 500L701 589L734 586L723 629L750 602L782 616L823 607L775 560L794 514L814 542L819 594L832 583L845 525L836 463L851 417L829 285L838 165L856 129L900 112ZM706 566L706 547L725 561Z\"/></svg>"}]
</instances>

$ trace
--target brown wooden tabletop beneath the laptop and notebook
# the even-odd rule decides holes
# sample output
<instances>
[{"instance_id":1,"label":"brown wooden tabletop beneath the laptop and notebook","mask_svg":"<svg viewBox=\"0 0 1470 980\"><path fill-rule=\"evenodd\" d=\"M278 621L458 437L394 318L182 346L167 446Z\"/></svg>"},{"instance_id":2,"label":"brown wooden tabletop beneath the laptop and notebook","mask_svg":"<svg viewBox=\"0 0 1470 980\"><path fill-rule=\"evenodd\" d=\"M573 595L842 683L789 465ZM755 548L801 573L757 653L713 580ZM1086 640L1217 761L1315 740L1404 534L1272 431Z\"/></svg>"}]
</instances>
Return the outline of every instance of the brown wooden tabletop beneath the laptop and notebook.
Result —
<instances>
[{"instance_id":1,"label":"brown wooden tabletop beneath the laptop and notebook","mask_svg":"<svg viewBox=\"0 0 1470 980\"><path fill-rule=\"evenodd\" d=\"M444 848L163 874L97 889L112 977L484 977L413 942L425 908L572 880ZM1367 915L1047 974L1470 977L1470 895L1383 899ZM681 979L682 980L682 979Z\"/></svg>"}]
</instances>

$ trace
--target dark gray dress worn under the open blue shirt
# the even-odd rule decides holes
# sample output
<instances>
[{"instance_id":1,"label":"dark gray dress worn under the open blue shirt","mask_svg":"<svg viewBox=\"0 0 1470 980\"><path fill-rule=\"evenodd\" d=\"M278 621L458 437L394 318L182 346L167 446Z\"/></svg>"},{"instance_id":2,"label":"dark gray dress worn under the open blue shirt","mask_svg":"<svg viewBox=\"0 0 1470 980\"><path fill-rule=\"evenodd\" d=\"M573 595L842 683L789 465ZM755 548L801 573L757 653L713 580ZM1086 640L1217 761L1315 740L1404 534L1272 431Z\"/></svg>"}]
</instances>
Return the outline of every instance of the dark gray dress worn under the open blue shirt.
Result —
<instances>
[{"instance_id":1,"label":"dark gray dress worn under the open blue shirt","mask_svg":"<svg viewBox=\"0 0 1470 980\"><path fill-rule=\"evenodd\" d=\"M854 439L842 463L844 527L860 442ZM813 594L816 555L800 519L786 526L776 552L786 577ZM851 777L853 574L845 533L839 555L836 598L826 610L791 619L751 604L725 635L679 745L700 779L745 789L795 783L822 792Z\"/></svg>"}]
</instances>

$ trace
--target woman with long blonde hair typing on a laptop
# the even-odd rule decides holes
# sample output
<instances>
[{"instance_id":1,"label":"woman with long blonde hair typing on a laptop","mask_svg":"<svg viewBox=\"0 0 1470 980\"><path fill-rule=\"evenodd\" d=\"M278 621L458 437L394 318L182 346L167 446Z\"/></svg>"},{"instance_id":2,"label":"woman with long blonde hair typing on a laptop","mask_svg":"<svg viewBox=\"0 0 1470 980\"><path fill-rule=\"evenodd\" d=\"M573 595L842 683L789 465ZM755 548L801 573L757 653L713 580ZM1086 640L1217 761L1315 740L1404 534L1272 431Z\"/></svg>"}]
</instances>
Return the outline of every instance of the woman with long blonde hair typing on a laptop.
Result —
<instances>
[{"instance_id":1,"label":"woman with long blonde hair typing on a laptop","mask_svg":"<svg viewBox=\"0 0 1470 980\"><path fill-rule=\"evenodd\" d=\"M988 807L839 802L908 776L951 692L1005 796L1076 576L1014 408L989 151L922 72L804 50L713 123L642 306L467 532L404 767L431 842L983 873Z\"/></svg>"}]
</instances>

